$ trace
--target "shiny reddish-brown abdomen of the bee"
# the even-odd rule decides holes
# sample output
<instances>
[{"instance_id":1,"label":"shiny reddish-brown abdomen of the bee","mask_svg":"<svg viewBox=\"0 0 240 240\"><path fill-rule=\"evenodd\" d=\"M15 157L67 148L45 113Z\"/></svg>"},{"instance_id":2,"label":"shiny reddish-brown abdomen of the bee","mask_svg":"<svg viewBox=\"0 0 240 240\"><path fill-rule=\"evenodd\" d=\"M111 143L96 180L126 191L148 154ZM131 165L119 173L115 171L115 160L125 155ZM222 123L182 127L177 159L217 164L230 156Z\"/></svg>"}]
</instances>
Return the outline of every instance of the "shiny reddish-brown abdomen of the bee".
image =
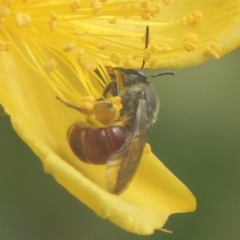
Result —
<instances>
[{"instance_id":1,"label":"shiny reddish-brown abdomen of the bee","mask_svg":"<svg viewBox=\"0 0 240 240\"><path fill-rule=\"evenodd\" d=\"M122 127L83 128L73 124L68 131L68 141L74 154L83 162L106 164L110 155L120 150L126 139Z\"/></svg>"}]
</instances>

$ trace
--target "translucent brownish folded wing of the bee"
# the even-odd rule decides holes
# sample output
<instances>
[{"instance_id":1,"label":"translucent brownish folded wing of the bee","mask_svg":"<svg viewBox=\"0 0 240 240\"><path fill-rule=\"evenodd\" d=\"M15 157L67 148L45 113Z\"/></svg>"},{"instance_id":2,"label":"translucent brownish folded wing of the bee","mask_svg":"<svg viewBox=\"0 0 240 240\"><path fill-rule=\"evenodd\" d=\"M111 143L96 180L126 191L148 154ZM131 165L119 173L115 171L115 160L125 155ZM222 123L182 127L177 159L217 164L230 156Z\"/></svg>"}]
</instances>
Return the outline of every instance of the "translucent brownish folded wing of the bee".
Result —
<instances>
[{"instance_id":1,"label":"translucent brownish folded wing of the bee","mask_svg":"<svg viewBox=\"0 0 240 240\"><path fill-rule=\"evenodd\" d=\"M147 117L147 102L138 99L132 133L127 137L122 148L113 153L106 167L106 187L109 192L120 194L125 190L139 165L144 146L147 142L152 122Z\"/></svg>"}]
</instances>

